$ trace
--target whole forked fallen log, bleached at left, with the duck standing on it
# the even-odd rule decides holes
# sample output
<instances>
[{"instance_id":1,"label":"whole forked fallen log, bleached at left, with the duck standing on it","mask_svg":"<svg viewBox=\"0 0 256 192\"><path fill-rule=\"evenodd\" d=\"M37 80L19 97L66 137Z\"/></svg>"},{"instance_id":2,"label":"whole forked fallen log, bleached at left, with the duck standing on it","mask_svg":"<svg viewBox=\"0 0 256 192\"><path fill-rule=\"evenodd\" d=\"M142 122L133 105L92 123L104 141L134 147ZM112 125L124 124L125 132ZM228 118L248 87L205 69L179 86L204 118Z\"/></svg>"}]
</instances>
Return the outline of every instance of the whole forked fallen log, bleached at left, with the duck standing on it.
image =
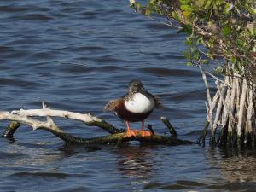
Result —
<instances>
[{"instance_id":1,"label":"whole forked fallen log, bleached at left, with the duck standing on it","mask_svg":"<svg viewBox=\"0 0 256 192\"><path fill-rule=\"evenodd\" d=\"M38 120L33 117L46 117L46 120ZM57 125L55 125L52 117L61 117L64 119L75 119L84 122L85 125L97 126L102 128L104 131L110 133L108 136L102 137L74 137L72 134L67 133ZM164 120L163 120L164 119ZM113 125L108 124L105 120L92 116L90 113L73 113L69 111L62 110L52 110L46 107L43 103L42 109L31 109L25 110L20 109L18 111L0 112L0 120L11 121L9 126L3 132L3 137L13 139L15 131L19 128L20 124L30 125L33 130L45 130L50 131L56 137L61 138L65 143L76 143L76 144L119 144L126 143L130 141L138 141L140 143L148 144L163 144L163 145L181 145L181 144L195 144L194 142L188 140L181 140L177 138L177 132L172 127L170 121L166 117L161 117L161 120L167 125L168 130L171 129L170 136L161 136L154 134L152 126L150 131L153 133L150 137L142 137L140 132L137 133L135 137L125 136L125 130L118 129ZM171 127L171 128L170 128Z\"/></svg>"}]
</instances>

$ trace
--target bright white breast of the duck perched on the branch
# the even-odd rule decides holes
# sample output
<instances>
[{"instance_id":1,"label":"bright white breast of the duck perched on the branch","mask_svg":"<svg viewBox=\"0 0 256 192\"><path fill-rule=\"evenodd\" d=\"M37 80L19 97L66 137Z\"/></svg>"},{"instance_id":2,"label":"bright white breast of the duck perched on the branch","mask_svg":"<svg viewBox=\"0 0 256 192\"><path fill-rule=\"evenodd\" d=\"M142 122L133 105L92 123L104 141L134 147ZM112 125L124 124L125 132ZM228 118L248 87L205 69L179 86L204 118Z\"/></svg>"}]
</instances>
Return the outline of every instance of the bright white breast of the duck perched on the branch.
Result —
<instances>
[{"instance_id":1,"label":"bright white breast of the duck perched on the branch","mask_svg":"<svg viewBox=\"0 0 256 192\"><path fill-rule=\"evenodd\" d=\"M131 100L125 101L125 108L132 113L147 113L154 108L154 100L141 93L136 93Z\"/></svg>"}]
</instances>

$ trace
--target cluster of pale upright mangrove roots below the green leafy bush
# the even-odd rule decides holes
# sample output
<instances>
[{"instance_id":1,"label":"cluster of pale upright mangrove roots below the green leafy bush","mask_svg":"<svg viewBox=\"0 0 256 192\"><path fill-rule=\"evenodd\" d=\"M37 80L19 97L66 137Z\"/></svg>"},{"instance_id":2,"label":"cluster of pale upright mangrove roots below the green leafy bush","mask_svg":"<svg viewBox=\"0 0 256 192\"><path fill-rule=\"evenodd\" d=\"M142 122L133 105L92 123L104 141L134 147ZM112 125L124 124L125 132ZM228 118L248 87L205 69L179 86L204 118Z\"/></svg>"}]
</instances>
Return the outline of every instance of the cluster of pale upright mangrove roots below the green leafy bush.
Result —
<instances>
[{"instance_id":1,"label":"cluster of pale upright mangrove roots below the green leafy bush","mask_svg":"<svg viewBox=\"0 0 256 192\"><path fill-rule=\"evenodd\" d=\"M255 84L239 74L224 76L216 80L217 92L211 97L206 72L199 67L207 88L207 123L199 141L204 144L209 126L211 145L256 148Z\"/></svg>"}]
</instances>

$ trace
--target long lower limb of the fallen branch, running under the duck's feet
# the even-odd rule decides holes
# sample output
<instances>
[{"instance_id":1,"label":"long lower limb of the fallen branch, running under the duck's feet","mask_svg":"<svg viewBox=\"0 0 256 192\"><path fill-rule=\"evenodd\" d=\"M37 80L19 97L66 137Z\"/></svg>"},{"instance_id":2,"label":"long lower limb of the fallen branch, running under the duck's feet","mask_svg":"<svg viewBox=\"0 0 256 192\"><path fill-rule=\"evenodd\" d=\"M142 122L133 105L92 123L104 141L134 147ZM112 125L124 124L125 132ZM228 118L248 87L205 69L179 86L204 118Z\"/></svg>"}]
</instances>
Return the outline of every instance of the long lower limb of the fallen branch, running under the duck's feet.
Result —
<instances>
[{"instance_id":1,"label":"long lower limb of the fallen branch, running under the duck's feet","mask_svg":"<svg viewBox=\"0 0 256 192\"><path fill-rule=\"evenodd\" d=\"M50 109L44 108L42 110L50 110ZM28 111L29 110L27 110L26 113L28 113ZM35 114L33 114L33 116L34 115ZM46 131L50 131L56 137L60 137L66 143L90 145L90 144L109 144L109 143L139 141L141 143L165 144L165 145L195 144L194 142L190 142L187 140L180 140L180 139L177 139L176 137L166 137L166 136L160 136L156 134L150 137L143 137L140 132L138 132L136 137L127 137L125 133L116 133L108 136L92 137L92 138L73 137L73 135L66 133L65 131L62 131L57 125L55 125L53 119L51 119L49 116L47 116L46 121L40 121L38 119L29 118L22 114L0 112L0 120L12 120L12 121L18 122L16 123L17 127L19 126L20 123L22 123L22 124L32 126L33 130L43 129Z\"/></svg>"}]
</instances>

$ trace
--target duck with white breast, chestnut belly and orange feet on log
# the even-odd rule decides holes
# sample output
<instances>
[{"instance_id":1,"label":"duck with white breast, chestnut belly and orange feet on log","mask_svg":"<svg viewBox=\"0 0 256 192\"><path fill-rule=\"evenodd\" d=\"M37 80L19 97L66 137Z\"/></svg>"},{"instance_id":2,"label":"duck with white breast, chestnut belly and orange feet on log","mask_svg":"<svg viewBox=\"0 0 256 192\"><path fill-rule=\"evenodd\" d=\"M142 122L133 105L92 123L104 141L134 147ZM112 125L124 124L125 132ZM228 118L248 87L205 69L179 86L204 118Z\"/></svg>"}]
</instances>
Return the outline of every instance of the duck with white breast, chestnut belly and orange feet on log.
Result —
<instances>
[{"instance_id":1,"label":"duck with white breast, chestnut belly and orange feet on log","mask_svg":"<svg viewBox=\"0 0 256 192\"><path fill-rule=\"evenodd\" d=\"M125 122L126 137L150 137L151 132L144 130L144 120L154 111L154 108L163 108L158 96L151 95L139 80L131 80L124 96L110 100L104 111L113 112ZM141 122L141 131L131 130L130 122Z\"/></svg>"}]
</instances>

